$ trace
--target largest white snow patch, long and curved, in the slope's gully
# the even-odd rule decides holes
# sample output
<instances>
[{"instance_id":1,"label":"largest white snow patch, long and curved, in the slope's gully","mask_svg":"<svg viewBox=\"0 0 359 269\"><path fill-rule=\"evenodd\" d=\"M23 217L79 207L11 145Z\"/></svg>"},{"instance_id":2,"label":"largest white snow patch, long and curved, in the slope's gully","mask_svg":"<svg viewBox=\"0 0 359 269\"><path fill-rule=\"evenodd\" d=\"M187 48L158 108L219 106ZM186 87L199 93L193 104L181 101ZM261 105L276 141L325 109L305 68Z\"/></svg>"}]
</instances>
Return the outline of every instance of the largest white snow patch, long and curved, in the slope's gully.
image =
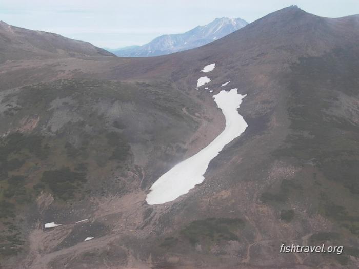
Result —
<instances>
[{"instance_id":1,"label":"largest white snow patch, long and curved, in the slope's gully","mask_svg":"<svg viewBox=\"0 0 359 269\"><path fill-rule=\"evenodd\" d=\"M242 99L246 95L237 93L237 89L229 92L222 90L213 96L226 118L226 127L206 148L192 157L178 163L153 183L147 194L148 204L170 202L188 193L196 184L203 182L209 162L222 151L224 146L240 136L247 128L247 122L238 114Z\"/></svg>"}]
</instances>

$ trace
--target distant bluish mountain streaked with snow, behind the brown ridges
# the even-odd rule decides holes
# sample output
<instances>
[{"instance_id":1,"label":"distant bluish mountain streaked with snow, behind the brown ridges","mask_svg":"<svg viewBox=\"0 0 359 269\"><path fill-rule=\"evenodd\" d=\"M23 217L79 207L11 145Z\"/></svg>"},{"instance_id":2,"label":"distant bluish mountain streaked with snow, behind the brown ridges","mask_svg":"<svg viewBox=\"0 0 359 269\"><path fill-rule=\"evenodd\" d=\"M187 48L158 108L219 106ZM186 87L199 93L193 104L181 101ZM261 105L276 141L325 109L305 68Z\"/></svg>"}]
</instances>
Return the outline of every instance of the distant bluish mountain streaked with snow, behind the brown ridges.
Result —
<instances>
[{"instance_id":1,"label":"distant bluish mountain streaked with snow, behind the brown ridges","mask_svg":"<svg viewBox=\"0 0 359 269\"><path fill-rule=\"evenodd\" d=\"M182 34L156 37L143 46L129 46L112 51L120 57L150 57L197 48L220 39L248 23L241 18L216 18L205 26L197 26Z\"/></svg>"}]
</instances>

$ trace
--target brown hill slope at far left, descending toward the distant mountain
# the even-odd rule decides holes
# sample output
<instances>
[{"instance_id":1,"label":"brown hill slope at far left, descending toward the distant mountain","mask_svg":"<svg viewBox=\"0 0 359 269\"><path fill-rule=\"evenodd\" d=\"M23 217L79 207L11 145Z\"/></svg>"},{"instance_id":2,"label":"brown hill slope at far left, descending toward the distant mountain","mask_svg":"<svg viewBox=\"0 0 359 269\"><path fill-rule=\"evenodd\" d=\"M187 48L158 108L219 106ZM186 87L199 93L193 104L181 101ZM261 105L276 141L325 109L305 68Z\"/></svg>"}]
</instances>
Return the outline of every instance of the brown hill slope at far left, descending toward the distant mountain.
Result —
<instances>
[{"instance_id":1,"label":"brown hill slope at far left, descending toward the distant mountain","mask_svg":"<svg viewBox=\"0 0 359 269\"><path fill-rule=\"evenodd\" d=\"M112 53L54 33L33 31L0 21L0 62L33 57L114 56Z\"/></svg>"}]
</instances>

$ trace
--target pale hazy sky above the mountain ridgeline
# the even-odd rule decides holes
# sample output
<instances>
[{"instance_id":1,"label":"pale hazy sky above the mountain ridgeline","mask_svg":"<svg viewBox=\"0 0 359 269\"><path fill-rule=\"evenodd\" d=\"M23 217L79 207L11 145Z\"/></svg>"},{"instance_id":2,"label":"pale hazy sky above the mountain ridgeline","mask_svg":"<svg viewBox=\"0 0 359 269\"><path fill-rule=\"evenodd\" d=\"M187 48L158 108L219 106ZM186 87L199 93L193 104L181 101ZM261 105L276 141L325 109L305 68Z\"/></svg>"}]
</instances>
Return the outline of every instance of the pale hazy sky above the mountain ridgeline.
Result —
<instances>
[{"instance_id":1,"label":"pale hazy sky above the mountain ridgeline","mask_svg":"<svg viewBox=\"0 0 359 269\"><path fill-rule=\"evenodd\" d=\"M0 20L118 48L185 32L216 17L250 23L292 4L325 17L359 14L359 0L0 0Z\"/></svg>"}]
</instances>

